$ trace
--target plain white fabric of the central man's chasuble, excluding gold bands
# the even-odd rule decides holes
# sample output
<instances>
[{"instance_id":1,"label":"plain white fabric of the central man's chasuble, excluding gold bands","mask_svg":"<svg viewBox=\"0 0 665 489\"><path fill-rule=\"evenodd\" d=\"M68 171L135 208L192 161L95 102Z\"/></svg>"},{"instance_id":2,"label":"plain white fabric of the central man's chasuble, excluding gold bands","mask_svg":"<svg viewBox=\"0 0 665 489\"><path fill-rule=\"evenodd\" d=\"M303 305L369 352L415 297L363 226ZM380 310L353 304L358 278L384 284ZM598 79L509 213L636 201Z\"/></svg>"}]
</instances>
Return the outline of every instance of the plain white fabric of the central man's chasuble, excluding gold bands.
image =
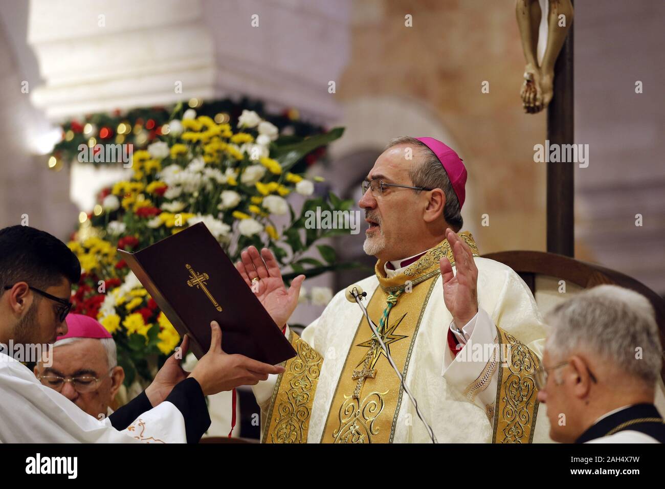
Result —
<instances>
[{"instance_id":1,"label":"plain white fabric of the central man's chasuble, excluding gold bands","mask_svg":"<svg viewBox=\"0 0 665 489\"><path fill-rule=\"evenodd\" d=\"M541 357L545 327L529 287L503 263L475 257L475 264L478 269L479 312L472 320L473 325L464 327L464 332L470 333L467 340L469 343L458 357L462 358L460 355L465 355L465 349L473 343L493 343L497 335L495 325ZM456 271L454 266L453 269ZM386 270L386 273L390 277L402 270ZM364 303L368 304L378 287L376 275L359 281L357 285L366 291ZM303 331L302 339L323 357L307 442L321 441L344 360L361 318L360 307L347 301L342 290L333 297L321 316ZM378 323L378 319L372 318L374 323ZM447 341L451 324L452 315L444 303L442 278L439 275L414 340L405 381L432 426L438 442L490 442L492 423L486 409L496 397L497 371L494 371L484 389L481 388L473 400L463 395L465 389L479 377L487 359L455 359ZM395 374L386 372L385 375ZM267 381L253 387L263 414L269 407L276 381L277 375L271 375ZM394 442L430 442L428 432L410 401L401 404L399 416L400 419L411 419L412 422L396 423ZM537 412L533 442L551 442L549 422L542 404Z\"/></svg>"}]
</instances>

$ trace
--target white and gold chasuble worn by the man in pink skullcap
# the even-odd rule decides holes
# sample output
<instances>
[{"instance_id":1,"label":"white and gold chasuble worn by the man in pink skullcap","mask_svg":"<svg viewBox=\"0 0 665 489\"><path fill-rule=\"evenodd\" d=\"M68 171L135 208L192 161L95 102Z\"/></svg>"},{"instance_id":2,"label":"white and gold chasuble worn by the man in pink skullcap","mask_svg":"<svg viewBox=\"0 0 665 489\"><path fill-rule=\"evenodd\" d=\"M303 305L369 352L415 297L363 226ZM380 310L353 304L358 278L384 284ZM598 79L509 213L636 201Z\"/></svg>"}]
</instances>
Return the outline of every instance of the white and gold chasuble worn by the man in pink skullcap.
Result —
<instances>
[{"instance_id":1,"label":"white and gold chasuble worn by the man in pink skullcap","mask_svg":"<svg viewBox=\"0 0 665 489\"><path fill-rule=\"evenodd\" d=\"M390 278L379 260L375 275L358 283L368 314L439 442L549 441L533 380L545 336L533 296L512 269L477 257L470 234L460 236L478 268L479 313L457 357L448 347L452 315L439 268L442 256L454 267L447 240ZM360 307L344 291L302 338L287 335L297 356L285 373L253 388L263 442L430 442ZM473 345L489 355L473 355Z\"/></svg>"}]
</instances>

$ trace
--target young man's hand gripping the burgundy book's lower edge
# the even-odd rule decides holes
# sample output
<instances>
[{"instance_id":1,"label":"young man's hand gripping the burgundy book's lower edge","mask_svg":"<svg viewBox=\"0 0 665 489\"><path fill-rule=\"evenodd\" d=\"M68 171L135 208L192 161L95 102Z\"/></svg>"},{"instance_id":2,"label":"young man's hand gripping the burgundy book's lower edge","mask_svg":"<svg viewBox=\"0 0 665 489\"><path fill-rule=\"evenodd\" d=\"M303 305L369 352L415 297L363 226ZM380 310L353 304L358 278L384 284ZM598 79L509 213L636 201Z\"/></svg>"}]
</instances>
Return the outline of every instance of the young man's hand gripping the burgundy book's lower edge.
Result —
<instances>
[{"instance_id":1,"label":"young man's hand gripping the burgundy book's lower edge","mask_svg":"<svg viewBox=\"0 0 665 489\"><path fill-rule=\"evenodd\" d=\"M241 385L256 385L265 381L271 373L283 373L284 367L262 363L244 355L229 355L221 349L221 328L217 321L210 323L212 329L210 349L198 361L190 374L198 381L203 395L230 391Z\"/></svg>"}]
</instances>

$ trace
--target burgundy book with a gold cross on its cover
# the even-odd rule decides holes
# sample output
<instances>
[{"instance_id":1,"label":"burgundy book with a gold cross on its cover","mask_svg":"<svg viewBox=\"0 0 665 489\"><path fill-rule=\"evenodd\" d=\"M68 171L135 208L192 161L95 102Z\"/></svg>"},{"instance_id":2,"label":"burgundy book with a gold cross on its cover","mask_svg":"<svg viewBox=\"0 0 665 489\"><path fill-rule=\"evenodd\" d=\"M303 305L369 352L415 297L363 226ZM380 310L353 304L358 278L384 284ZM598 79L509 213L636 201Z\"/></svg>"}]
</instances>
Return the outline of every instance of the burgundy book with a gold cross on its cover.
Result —
<instances>
[{"instance_id":1,"label":"burgundy book with a gold cross on its cover","mask_svg":"<svg viewBox=\"0 0 665 489\"><path fill-rule=\"evenodd\" d=\"M235 269L214 236L198 223L136 253L118 249L190 350L210 347L210 321L229 354L277 365L295 350Z\"/></svg>"}]
</instances>

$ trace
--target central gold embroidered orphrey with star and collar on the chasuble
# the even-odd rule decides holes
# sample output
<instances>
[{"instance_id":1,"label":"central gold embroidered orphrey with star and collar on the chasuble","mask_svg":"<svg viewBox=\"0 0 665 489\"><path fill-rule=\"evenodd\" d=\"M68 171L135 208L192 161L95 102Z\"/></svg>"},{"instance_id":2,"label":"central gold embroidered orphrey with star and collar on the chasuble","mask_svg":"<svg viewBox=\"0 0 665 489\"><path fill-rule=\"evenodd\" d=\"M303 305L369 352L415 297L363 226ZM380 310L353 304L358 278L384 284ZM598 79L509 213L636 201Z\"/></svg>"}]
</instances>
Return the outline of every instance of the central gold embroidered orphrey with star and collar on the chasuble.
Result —
<instances>
[{"instance_id":1,"label":"central gold embroidered orphrey with star and collar on the chasuble","mask_svg":"<svg viewBox=\"0 0 665 489\"><path fill-rule=\"evenodd\" d=\"M462 233L460 236L469 245L473 255L477 256L478 249L471 234ZM409 265L404 273L394 277L386 277L384 261L376 263L375 273L379 285L372 294L367 311L370 317L382 317L390 303L385 343L386 346L390 343L390 355L405 379L422 317L436 278L441 273L439 259L442 257L454 263L447 240L429 249ZM407 281L411 291L401 293ZM400 341L407 338L408 341ZM393 441L403 389L377 343L367 319L362 317L332 398L321 442Z\"/></svg>"}]
</instances>

